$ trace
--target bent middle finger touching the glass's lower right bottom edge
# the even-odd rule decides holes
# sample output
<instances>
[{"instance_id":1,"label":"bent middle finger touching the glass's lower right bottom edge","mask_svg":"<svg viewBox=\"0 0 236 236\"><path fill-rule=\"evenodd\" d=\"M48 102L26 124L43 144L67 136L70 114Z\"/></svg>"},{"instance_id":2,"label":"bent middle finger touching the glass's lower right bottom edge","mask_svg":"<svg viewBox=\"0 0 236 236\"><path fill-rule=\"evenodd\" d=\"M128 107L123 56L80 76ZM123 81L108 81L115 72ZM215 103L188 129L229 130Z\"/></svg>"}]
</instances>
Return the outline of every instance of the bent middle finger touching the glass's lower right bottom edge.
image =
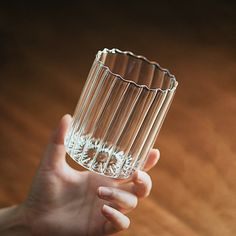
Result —
<instances>
[{"instance_id":1,"label":"bent middle finger touching the glass's lower right bottom edge","mask_svg":"<svg viewBox=\"0 0 236 236\"><path fill-rule=\"evenodd\" d=\"M138 198L144 198L150 194L152 180L146 172L138 170L133 174L132 182L123 184L119 188L135 194Z\"/></svg>"}]
</instances>

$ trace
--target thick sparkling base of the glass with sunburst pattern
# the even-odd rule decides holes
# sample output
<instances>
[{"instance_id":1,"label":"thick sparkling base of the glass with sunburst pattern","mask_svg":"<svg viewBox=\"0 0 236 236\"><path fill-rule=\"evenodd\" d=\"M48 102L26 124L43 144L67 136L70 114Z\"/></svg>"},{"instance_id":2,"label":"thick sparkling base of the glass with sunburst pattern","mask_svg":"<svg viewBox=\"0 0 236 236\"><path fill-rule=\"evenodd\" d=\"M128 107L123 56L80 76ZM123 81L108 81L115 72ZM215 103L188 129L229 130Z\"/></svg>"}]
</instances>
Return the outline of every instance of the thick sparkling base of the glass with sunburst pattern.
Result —
<instances>
[{"instance_id":1,"label":"thick sparkling base of the glass with sunburst pattern","mask_svg":"<svg viewBox=\"0 0 236 236\"><path fill-rule=\"evenodd\" d=\"M134 172L131 155L126 155L90 135L73 134L69 131L65 138L65 148L74 161L98 174L126 179Z\"/></svg>"}]
</instances>

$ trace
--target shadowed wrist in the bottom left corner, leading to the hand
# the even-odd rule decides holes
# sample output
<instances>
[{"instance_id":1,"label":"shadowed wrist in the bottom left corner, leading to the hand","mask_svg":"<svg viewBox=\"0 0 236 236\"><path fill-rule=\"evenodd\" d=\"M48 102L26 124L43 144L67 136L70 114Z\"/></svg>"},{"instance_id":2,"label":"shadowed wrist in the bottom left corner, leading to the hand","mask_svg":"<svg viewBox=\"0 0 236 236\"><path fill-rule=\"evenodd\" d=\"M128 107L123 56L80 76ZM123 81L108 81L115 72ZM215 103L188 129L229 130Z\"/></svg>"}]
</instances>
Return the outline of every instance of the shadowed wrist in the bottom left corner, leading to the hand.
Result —
<instances>
[{"instance_id":1,"label":"shadowed wrist in the bottom left corner, leading to the hand","mask_svg":"<svg viewBox=\"0 0 236 236\"><path fill-rule=\"evenodd\" d=\"M15 205L0 209L0 235L31 235L30 227L26 220L24 205Z\"/></svg>"}]
</instances>

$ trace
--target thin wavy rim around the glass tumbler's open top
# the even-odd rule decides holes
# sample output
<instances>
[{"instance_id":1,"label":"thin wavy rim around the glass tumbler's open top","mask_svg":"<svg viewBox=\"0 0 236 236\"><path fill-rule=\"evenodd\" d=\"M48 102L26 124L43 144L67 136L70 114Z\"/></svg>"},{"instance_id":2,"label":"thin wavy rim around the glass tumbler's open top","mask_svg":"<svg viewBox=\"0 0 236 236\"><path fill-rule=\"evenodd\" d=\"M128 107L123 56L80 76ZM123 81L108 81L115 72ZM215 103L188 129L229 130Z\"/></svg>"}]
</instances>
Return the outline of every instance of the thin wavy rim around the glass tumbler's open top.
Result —
<instances>
[{"instance_id":1,"label":"thin wavy rim around the glass tumbler's open top","mask_svg":"<svg viewBox=\"0 0 236 236\"><path fill-rule=\"evenodd\" d=\"M171 79L171 82L173 83L173 85L171 86L171 88L166 88L166 89L162 89L160 87L158 88L150 88L149 86L145 85L145 84L138 84L136 83L135 81L133 80L129 80L129 79L125 79L123 78L121 75L117 74L117 73L114 73L111 71L111 69L109 68L109 66L106 66L101 60L101 55L102 53L120 53L120 54L125 54L125 55L128 55L128 56L132 56L136 59L141 59L145 62L147 62L148 64L150 65L153 65L155 66L158 70L160 71L163 71L165 73L167 73L168 77ZM163 67L161 67L156 61L151 61L151 60L148 60L146 57L142 56L142 55L136 55L134 54L133 52L131 51L122 51L122 50L119 50L117 48L112 48L112 49L108 49L108 48L104 48L103 50L99 50L98 53L96 54L96 58L95 60L102 65L102 67L104 67L106 70L108 70L109 73L111 73L112 75L114 75L115 77L121 79L122 81L126 82L126 83L129 83L129 84L132 84L138 88L145 88L147 89L148 91L160 91L162 93L164 92L173 92L176 90L177 86L178 86L178 81L176 80L175 76L173 74L170 73L170 71L168 69L165 69Z\"/></svg>"}]
</instances>

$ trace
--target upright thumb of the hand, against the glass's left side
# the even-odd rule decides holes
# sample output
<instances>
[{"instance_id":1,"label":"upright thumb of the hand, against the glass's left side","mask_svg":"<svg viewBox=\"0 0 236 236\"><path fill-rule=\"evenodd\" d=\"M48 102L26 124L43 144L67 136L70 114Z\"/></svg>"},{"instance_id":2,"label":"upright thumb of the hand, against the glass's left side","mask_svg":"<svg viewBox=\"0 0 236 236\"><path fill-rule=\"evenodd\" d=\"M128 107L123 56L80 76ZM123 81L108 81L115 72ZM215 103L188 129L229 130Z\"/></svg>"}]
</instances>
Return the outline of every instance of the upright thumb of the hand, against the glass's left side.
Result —
<instances>
[{"instance_id":1,"label":"upright thumb of the hand, against the glass's left side","mask_svg":"<svg viewBox=\"0 0 236 236\"><path fill-rule=\"evenodd\" d=\"M54 131L43 158L42 165L44 168L51 169L66 162L64 138L71 119L69 114L66 114L61 118L58 128Z\"/></svg>"}]
</instances>

